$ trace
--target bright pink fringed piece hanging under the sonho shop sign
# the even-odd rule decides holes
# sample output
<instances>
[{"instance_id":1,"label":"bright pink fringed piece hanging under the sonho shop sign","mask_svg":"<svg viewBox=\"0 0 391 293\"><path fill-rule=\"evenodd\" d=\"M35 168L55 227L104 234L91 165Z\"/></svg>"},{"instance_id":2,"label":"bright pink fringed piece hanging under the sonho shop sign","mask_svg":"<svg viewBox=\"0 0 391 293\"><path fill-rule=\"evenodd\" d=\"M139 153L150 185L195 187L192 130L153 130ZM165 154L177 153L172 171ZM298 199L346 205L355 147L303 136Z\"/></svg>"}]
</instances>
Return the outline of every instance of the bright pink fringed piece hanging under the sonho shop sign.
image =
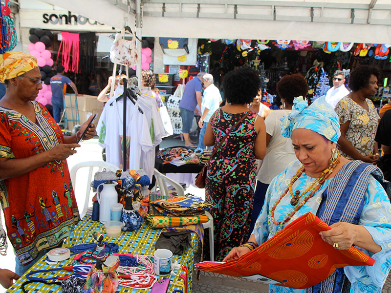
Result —
<instances>
[{"instance_id":1,"label":"bright pink fringed piece hanging under the sonho shop sign","mask_svg":"<svg viewBox=\"0 0 391 293\"><path fill-rule=\"evenodd\" d=\"M60 47L57 53L57 60L60 57L60 51L62 51L62 63L65 68L65 72L71 71L79 73L79 34L61 32L63 39L61 40ZM71 62L72 56L72 62Z\"/></svg>"}]
</instances>

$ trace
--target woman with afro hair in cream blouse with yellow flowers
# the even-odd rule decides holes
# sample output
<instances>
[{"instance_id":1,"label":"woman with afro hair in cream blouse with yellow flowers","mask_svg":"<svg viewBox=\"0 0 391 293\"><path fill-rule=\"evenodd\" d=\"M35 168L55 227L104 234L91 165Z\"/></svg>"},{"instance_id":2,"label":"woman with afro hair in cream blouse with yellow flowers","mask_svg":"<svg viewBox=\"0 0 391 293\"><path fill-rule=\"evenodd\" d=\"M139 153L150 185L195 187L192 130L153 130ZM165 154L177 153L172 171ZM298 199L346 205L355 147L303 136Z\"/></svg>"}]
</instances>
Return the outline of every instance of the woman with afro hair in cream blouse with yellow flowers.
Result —
<instances>
[{"instance_id":1,"label":"woman with afro hair in cream blouse with yellow flowers","mask_svg":"<svg viewBox=\"0 0 391 293\"><path fill-rule=\"evenodd\" d=\"M377 67L361 65L350 74L349 87L352 90L335 106L339 116L341 137L338 145L341 155L349 160L374 163L379 159L375 142L379 115L369 97L378 89L380 71Z\"/></svg>"}]
</instances>

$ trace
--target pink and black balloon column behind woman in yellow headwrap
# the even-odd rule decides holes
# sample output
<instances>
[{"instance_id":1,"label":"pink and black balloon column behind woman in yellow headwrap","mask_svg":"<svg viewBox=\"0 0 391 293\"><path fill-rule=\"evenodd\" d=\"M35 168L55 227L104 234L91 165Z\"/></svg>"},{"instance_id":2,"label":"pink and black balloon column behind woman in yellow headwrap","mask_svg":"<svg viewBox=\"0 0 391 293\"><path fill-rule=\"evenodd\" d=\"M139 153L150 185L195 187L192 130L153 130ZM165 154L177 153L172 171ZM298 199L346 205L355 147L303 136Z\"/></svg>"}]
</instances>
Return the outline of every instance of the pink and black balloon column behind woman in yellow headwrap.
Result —
<instances>
[{"instance_id":1,"label":"pink and black balloon column behind woman in yellow headwrap","mask_svg":"<svg viewBox=\"0 0 391 293\"><path fill-rule=\"evenodd\" d=\"M44 38L45 37L45 38ZM40 28L30 29L29 40L35 41L28 44L30 54L37 58L37 64L40 66L41 79L43 80L42 89L38 92L36 101L42 105L52 105L52 90L50 87L50 78L54 76L51 69L54 61L52 54L48 50L51 46L50 38L53 38L51 31L43 31ZM42 42L44 41L44 42Z\"/></svg>"}]
</instances>

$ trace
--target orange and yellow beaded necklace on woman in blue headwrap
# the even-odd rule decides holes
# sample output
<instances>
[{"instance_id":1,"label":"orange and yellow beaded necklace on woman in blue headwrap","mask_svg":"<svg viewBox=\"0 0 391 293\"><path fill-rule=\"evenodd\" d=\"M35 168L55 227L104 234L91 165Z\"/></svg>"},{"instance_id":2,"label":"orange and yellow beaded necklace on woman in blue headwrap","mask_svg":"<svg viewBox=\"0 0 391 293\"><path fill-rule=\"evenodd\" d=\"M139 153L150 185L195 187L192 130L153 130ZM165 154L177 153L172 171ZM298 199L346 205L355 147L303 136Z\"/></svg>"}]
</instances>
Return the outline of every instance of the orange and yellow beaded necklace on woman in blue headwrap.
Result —
<instances>
[{"instance_id":1,"label":"orange and yellow beaded necklace on woman in blue headwrap","mask_svg":"<svg viewBox=\"0 0 391 293\"><path fill-rule=\"evenodd\" d=\"M278 231L280 231L282 229L282 225L285 224L286 222L288 222L293 217L293 215L296 213L296 211L298 211L301 207L303 207L308 199L310 199L311 197L314 196L314 194L325 183L328 176L330 176L330 174L333 172L333 169L339 163L339 158L340 158L339 151L338 150L336 150L335 152L333 151L329 167L327 167L322 172L322 174L318 178L316 178L316 180L309 187L307 187L305 189L305 191L302 194L300 194L299 190L296 190L295 194L293 194L292 185L303 174L303 172L305 171L305 168L304 168L304 166L302 166L296 171L295 175L292 176L288 187L282 193L280 198L274 202L273 208L269 210L269 213L267 215L267 224L269 226L270 234L275 234ZM292 195L292 199L290 201L290 204L293 207L292 207L292 209L290 209L288 211L288 213L286 214L286 217L281 222L277 222L276 219L274 218L274 210L276 209L277 205L281 202L282 198L288 193L288 191ZM309 192L309 191L311 191L311 192ZM303 200L299 203L300 198L303 198ZM272 223L274 225L277 225L275 232L272 231Z\"/></svg>"}]
</instances>

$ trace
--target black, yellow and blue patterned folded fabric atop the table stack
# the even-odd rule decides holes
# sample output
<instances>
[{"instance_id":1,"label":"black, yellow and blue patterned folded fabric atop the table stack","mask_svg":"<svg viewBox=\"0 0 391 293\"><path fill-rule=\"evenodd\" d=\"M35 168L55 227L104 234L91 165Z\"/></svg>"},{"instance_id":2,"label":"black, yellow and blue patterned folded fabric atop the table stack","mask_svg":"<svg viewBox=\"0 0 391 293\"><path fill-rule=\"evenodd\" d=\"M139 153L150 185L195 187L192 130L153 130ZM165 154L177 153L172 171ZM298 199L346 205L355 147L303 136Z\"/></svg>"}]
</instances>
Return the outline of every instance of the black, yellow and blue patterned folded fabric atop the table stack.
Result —
<instances>
[{"instance_id":1,"label":"black, yellow and blue patterned folded fabric atop the table stack","mask_svg":"<svg viewBox=\"0 0 391 293\"><path fill-rule=\"evenodd\" d=\"M160 207L171 215L184 215L212 208L212 205L198 197L172 197L152 201L154 207Z\"/></svg>"}]
</instances>

